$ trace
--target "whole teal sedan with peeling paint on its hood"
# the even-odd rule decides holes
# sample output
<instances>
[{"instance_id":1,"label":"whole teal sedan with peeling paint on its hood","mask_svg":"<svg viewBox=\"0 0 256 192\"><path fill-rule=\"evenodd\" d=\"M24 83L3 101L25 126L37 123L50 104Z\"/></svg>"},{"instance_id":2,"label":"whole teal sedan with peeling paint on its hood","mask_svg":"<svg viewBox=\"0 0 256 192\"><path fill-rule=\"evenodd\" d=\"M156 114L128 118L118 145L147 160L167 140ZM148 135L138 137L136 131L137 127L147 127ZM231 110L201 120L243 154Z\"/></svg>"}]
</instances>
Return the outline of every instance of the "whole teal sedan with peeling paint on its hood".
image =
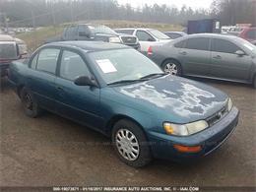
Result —
<instances>
[{"instance_id":1,"label":"whole teal sedan with peeling paint on its hood","mask_svg":"<svg viewBox=\"0 0 256 192\"><path fill-rule=\"evenodd\" d=\"M117 156L132 166L153 158L193 160L218 149L238 122L223 92L164 74L133 48L66 41L14 62L10 82L25 112L42 109L111 137Z\"/></svg>"}]
</instances>

